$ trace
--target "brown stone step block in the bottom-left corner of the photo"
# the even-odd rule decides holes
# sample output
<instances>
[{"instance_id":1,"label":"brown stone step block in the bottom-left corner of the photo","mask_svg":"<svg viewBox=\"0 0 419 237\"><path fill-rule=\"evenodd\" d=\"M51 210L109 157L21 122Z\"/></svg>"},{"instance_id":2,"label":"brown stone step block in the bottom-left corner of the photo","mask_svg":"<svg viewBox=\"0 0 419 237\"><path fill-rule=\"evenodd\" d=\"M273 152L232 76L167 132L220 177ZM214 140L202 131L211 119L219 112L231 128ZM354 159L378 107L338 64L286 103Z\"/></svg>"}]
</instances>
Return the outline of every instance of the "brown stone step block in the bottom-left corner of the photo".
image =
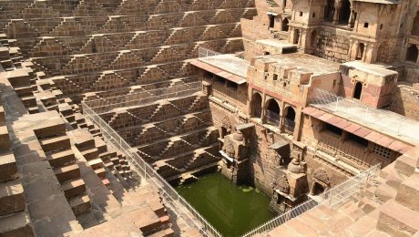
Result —
<instances>
[{"instance_id":1,"label":"brown stone step block in the bottom-left corner of the photo","mask_svg":"<svg viewBox=\"0 0 419 237\"><path fill-rule=\"evenodd\" d=\"M10 215L0 216L1 236L35 236L29 214L19 211Z\"/></svg>"}]
</instances>

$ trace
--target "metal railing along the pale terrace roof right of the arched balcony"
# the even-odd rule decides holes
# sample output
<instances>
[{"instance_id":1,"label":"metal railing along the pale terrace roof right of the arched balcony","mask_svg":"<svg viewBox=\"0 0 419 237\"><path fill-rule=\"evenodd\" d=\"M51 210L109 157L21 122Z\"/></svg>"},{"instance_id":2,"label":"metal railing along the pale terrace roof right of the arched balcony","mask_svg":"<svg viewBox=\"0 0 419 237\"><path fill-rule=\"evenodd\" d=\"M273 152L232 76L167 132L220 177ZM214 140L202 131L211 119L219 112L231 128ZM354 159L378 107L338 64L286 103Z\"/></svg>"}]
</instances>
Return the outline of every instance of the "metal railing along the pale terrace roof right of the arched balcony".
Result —
<instances>
[{"instance_id":1,"label":"metal railing along the pale terrace roof right of the arched balcony","mask_svg":"<svg viewBox=\"0 0 419 237\"><path fill-rule=\"evenodd\" d=\"M329 91L315 88L310 98L310 104L345 118L359 121L368 127L381 130L384 133L397 135L404 139L419 140L417 130L419 122L406 118L389 110L372 108L351 98L342 98Z\"/></svg>"}]
</instances>

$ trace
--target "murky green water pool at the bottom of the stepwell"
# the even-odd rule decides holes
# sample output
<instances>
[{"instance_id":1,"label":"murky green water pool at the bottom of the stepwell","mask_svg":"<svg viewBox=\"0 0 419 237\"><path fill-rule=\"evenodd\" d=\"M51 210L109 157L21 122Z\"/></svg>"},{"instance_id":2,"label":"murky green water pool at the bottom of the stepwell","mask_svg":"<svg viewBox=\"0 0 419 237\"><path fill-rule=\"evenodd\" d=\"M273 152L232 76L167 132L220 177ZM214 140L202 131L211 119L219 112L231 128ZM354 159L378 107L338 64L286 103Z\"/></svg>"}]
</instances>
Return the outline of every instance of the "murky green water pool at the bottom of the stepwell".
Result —
<instances>
[{"instance_id":1,"label":"murky green water pool at the bottom of the stepwell","mask_svg":"<svg viewBox=\"0 0 419 237\"><path fill-rule=\"evenodd\" d=\"M270 199L249 186L235 186L219 172L176 188L223 236L240 236L271 220Z\"/></svg>"}]
</instances>

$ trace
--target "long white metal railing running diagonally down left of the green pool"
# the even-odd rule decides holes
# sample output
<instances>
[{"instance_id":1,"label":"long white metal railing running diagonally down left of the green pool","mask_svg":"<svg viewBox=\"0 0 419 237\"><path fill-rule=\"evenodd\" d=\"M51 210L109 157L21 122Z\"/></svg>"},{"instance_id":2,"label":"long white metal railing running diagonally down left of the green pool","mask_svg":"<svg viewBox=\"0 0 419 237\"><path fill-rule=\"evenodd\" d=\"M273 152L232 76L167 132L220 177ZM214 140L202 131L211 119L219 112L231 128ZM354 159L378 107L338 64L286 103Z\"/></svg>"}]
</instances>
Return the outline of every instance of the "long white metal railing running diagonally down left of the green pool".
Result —
<instances>
[{"instance_id":1,"label":"long white metal railing running diagonally down left of the green pool","mask_svg":"<svg viewBox=\"0 0 419 237\"><path fill-rule=\"evenodd\" d=\"M196 211L188 201L179 195L177 191L171 187L171 185L163 179L156 170L154 170L145 160L143 160L139 155L137 149L131 148L127 141L122 139L118 132L112 129L105 120L100 118L99 115L92 109L87 106L86 103L82 102L83 114L89 120L91 120L97 127L100 129L103 135L103 139L107 141L107 144L120 149L127 156L127 160L133 168L132 170L138 172L138 175L144 179L152 182L158 187L160 195L163 200L169 204L170 207L173 207L173 210L176 215L181 216L182 218L188 218L190 223L192 223L199 232L204 234L204 236L221 236L207 220L205 220L202 215Z\"/></svg>"}]
</instances>

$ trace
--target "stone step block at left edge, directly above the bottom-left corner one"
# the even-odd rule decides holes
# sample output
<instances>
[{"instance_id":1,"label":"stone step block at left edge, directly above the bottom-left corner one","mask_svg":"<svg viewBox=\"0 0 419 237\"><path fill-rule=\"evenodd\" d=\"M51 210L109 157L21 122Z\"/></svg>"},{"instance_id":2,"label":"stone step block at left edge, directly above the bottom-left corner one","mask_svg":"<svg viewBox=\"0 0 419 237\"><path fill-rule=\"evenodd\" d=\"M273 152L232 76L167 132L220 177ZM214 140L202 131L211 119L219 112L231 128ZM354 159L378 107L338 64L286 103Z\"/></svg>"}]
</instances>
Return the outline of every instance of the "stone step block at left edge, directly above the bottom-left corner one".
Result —
<instances>
[{"instance_id":1,"label":"stone step block at left edge, directly above the bottom-left corner one","mask_svg":"<svg viewBox=\"0 0 419 237\"><path fill-rule=\"evenodd\" d=\"M26 208L22 180L10 180L0 183L0 215L6 215Z\"/></svg>"}]
</instances>

